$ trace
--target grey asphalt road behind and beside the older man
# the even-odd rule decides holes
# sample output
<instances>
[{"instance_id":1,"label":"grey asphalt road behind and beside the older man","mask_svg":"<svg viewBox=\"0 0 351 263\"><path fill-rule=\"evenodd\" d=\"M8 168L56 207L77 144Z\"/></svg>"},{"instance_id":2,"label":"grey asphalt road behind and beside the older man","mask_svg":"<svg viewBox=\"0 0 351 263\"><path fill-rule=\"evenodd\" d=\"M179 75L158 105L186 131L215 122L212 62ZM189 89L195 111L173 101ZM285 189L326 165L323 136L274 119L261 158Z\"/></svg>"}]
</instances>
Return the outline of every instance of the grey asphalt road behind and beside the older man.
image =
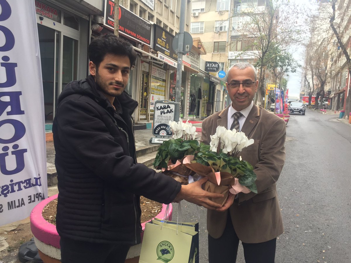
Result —
<instances>
[{"instance_id":1,"label":"grey asphalt road behind and beside the older man","mask_svg":"<svg viewBox=\"0 0 351 263\"><path fill-rule=\"evenodd\" d=\"M277 182L285 230L277 240L277 263L351 262L351 126L337 117L313 110L290 115ZM183 221L196 221L196 206L181 205ZM206 209L199 215L200 263L206 263ZM237 262L245 262L241 245Z\"/></svg>"}]
</instances>

